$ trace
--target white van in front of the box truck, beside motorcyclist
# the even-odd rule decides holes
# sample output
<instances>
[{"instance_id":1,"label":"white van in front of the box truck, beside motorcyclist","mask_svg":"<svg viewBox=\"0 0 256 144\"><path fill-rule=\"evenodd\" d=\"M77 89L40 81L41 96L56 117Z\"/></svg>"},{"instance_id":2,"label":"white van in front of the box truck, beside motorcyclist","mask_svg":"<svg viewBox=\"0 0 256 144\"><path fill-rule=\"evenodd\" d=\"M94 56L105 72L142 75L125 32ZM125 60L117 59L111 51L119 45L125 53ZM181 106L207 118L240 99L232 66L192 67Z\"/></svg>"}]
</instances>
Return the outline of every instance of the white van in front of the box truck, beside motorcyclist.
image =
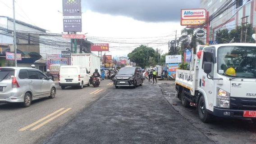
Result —
<instances>
[{"instance_id":1,"label":"white van in front of the box truck, beside motorcyclist","mask_svg":"<svg viewBox=\"0 0 256 144\"><path fill-rule=\"evenodd\" d=\"M90 76L86 67L81 66L61 66L59 70L59 86L65 89L66 86L90 86Z\"/></svg>"}]
</instances>

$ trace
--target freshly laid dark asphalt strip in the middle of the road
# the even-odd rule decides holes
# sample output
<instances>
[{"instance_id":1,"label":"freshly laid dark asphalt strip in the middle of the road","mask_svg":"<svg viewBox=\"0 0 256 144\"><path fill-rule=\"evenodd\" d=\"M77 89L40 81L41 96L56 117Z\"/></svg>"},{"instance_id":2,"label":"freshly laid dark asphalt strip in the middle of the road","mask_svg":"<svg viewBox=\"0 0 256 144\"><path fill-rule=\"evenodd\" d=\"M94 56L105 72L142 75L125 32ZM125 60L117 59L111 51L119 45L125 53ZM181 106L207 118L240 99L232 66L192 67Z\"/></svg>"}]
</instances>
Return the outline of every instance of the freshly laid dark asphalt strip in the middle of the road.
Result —
<instances>
[{"instance_id":1,"label":"freshly laid dark asphalt strip in the middle of the road","mask_svg":"<svg viewBox=\"0 0 256 144\"><path fill-rule=\"evenodd\" d=\"M46 144L214 144L164 98L159 85L110 91Z\"/></svg>"}]
</instances>

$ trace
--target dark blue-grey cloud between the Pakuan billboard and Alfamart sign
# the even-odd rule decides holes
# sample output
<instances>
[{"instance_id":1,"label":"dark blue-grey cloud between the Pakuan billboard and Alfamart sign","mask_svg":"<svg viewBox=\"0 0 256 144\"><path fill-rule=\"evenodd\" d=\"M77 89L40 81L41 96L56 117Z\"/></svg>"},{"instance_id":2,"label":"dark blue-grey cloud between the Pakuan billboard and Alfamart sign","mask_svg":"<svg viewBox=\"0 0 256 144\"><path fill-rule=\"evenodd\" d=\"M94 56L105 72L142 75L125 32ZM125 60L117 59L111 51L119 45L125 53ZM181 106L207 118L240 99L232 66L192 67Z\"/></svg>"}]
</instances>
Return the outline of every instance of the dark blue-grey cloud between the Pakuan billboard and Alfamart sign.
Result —
<instances>
[{"instance_id":1,"label":"dark blue-grey cloud between the Pakuan billboard and Alfamart sign","mask_svg":"<svg viewBox=\"0 0 256 144\"><path fill-rule=\"evenodd\" d=\"M177 22L180 9L199 8L200 0L82 0L83 11L122 15L145 22Z\"/></svg>"}]
</instances>

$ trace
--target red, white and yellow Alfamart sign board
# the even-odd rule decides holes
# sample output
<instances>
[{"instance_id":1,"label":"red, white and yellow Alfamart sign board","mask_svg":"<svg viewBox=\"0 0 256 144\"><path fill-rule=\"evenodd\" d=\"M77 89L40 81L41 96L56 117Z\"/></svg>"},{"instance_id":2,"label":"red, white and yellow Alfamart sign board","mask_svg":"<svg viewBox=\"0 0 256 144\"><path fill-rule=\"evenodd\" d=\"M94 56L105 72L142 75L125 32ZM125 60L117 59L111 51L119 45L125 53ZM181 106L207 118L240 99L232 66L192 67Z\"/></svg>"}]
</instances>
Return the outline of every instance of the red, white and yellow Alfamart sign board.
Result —
<instances>
[{"instance_id":1,"label":"red, white and yellow Alfamart sign board","mask_svg":"<svg viewBox=\"0 0 256 144\"><path fill-rule=\"evenodd\" d=\"M180 25L196 26L206 21L206 9L181 9Z\"/></svg>"}]
</instances>

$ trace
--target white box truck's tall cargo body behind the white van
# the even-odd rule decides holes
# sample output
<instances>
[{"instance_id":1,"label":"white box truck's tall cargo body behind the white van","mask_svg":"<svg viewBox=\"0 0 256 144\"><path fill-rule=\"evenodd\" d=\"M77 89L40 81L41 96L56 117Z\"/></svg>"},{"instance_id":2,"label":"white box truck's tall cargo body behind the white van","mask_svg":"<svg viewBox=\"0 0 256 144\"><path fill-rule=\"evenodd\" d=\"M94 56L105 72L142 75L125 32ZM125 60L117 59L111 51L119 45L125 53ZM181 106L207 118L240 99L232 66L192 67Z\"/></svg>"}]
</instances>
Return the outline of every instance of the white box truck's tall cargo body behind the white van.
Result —
<instances>
[{"instance_id":1,"label":"white box truck's tall cargo body behind the white van","mask_svg":"<svg viewBox=\"0 0 256 144\"><path fill-rule=\"evenodd\" d=\"M90 74L95 69L101 73L101 58L95 54L71 54L71 65L86 67Z\"/></svg>"}]
</instances>

